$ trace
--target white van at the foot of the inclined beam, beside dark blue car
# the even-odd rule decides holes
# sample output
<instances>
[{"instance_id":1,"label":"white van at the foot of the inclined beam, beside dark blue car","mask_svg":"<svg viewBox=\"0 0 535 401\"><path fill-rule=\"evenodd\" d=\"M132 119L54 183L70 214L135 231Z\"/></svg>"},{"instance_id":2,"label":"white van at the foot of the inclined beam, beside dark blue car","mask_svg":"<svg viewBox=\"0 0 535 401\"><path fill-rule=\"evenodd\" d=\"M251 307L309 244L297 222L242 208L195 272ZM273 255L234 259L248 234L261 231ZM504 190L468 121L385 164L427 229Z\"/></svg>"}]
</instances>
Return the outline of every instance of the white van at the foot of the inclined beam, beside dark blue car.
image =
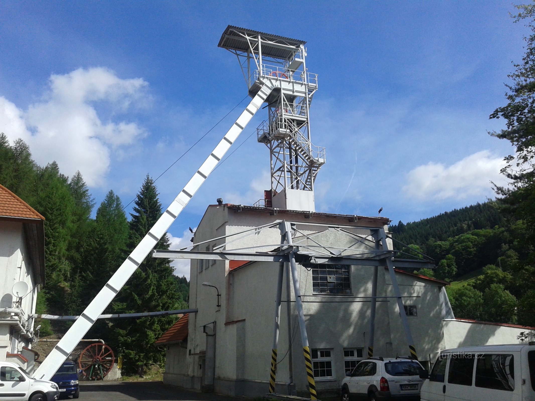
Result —
<instances>
[{"instance_id":1,"label":"white van at the foot of the inclined beam, beside dark blue car","mask_svg":"<svg viewBox=\"0 0 535 401\"><path fill-rule=\"evenodd\" d=\"M55 401L58 397L56 383L33 379L20 366L0 361L0 400Z\"/></svg>"}]
</instances>

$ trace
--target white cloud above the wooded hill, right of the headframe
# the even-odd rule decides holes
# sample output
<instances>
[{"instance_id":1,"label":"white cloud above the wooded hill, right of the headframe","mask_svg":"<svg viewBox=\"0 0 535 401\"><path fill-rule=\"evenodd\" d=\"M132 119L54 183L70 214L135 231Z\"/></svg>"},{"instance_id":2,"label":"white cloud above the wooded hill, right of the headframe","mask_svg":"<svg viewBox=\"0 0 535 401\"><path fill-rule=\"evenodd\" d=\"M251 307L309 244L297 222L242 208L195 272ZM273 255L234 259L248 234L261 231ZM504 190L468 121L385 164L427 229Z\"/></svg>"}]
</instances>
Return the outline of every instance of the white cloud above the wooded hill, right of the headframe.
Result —
<instances>
[{"instance_id":1,"label":"white cloud above the wooded hill, right of the headframe","mask_svg":"<svg viewBox=\"0 0 535 401\"><path fill-rule=\"evenodd\" d=\"M505 183L500 174L504 165L502 157L496 157L488 150L473 153L450 166L430 162L407 174L403 191L406 196L421 201L492 196L491 181Z\"/></svg>"}]
</instances>

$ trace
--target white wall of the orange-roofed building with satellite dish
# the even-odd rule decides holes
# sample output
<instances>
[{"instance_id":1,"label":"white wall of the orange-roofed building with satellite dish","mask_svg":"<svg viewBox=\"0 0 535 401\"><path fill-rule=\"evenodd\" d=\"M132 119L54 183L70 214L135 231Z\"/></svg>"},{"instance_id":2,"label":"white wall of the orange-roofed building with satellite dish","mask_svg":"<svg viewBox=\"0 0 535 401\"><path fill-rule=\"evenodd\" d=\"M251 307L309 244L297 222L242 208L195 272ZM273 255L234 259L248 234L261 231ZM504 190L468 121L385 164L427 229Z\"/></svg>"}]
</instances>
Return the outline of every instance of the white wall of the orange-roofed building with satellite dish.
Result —
<instances>
[{"instance_id":1,"label":"white wall of the orange-roofed building with satellite dish","mask_svg":"<svg viewBox=\"0 0 535 401\"><path fill-rule=\"evenodd\" d=\"M34 271L31 266L24 239L22 222L0 220L0 309L13 307L16 300L12 295L13 284L25 281L31 289L22 299L22 310L25 315L22 319L24 328L33 329L33 319L28 320L28 314L35 312L37 300L37 286ZM0 315L0 359L5 360L6 353L19 353L22 346L31 348L27 336L14 333L18 319L13 314ZM10 335L12 333L12 336ZM14 337L14 338L12 338Z\"/></svg>"}]
</instances>

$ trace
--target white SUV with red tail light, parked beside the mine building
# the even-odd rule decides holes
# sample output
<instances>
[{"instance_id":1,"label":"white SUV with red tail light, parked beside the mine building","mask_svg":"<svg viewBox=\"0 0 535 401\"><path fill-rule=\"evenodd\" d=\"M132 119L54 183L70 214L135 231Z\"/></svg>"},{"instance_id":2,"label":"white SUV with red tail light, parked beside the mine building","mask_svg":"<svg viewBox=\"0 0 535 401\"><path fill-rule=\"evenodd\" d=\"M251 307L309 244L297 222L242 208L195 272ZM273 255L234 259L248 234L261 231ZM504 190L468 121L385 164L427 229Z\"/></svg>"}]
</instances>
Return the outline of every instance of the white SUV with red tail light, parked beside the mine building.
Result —
<instances>
[{"instance_id":1,"label":"white SUV with red tail light, parked beside the mine building","mask_svg":"<svg viewBox=\"0 0 535 401\"><path fill-rule=\"evenodd\" d=\"M342 401L419 400L422 370L422 365L413 359L364 359L353 372L346 372L341 383Z\"/></svg>"}]
</instances>

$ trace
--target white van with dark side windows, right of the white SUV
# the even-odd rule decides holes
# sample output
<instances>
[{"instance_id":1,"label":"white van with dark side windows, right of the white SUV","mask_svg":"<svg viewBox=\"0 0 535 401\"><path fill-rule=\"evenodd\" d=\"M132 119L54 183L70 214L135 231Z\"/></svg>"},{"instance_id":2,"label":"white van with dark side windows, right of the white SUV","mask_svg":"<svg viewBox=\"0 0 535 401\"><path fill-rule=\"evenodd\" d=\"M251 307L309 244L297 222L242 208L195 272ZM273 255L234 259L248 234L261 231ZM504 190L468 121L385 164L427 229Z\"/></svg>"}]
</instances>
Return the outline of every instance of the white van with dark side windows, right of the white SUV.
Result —
<instances>
[{"instance_id":1,"label":"white van with dark side windows, right of the white SUV","mask_svg":"<svg viewBox=\"0 0 535 401\"><path fill-rule=\"evenodd\" d=\"M420 377L422 401L535 401L535 345L445 350Z\"/></svg>"}]
</instances>

